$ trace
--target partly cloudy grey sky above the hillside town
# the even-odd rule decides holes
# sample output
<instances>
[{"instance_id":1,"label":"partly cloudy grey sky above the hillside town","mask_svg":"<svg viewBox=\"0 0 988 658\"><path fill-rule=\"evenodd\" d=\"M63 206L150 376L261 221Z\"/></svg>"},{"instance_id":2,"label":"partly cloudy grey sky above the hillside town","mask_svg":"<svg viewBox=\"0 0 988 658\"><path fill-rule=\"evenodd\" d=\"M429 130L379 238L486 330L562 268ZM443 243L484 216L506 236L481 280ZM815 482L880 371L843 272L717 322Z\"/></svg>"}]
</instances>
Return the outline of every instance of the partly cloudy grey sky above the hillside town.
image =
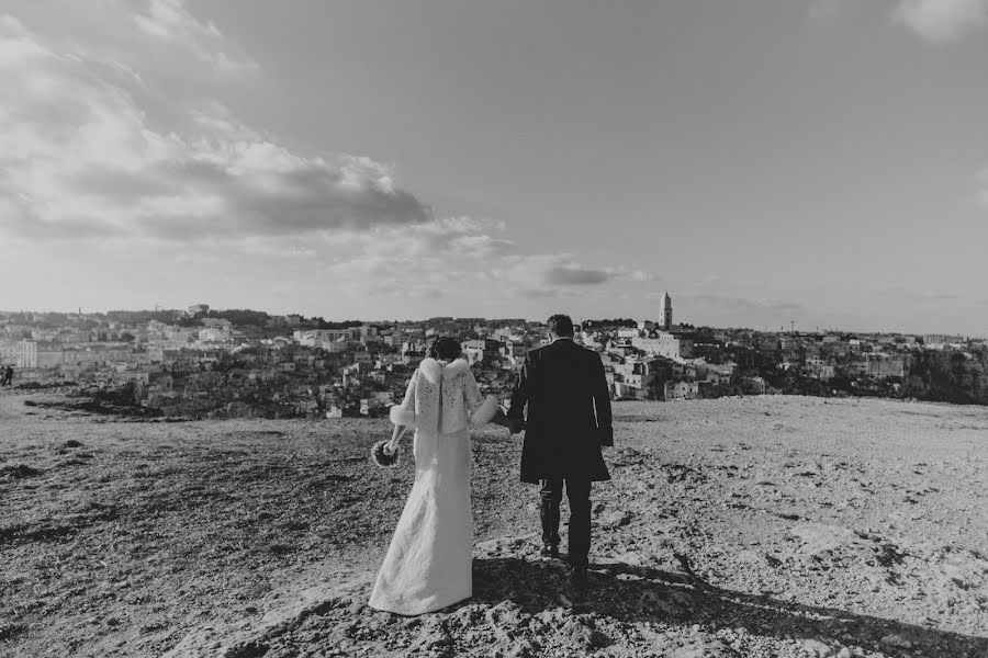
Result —
<instances>
[{"instance_id":1,"label":"partly cloudy grey sky above the hillside town","mask_svg":"<svg viewBox=\"0 0 988 658\"><path fill-rule=\"evenodd\" d=\"M988 334L988 0L0 0L0 308Z\"/></svg>"}]
</instances>

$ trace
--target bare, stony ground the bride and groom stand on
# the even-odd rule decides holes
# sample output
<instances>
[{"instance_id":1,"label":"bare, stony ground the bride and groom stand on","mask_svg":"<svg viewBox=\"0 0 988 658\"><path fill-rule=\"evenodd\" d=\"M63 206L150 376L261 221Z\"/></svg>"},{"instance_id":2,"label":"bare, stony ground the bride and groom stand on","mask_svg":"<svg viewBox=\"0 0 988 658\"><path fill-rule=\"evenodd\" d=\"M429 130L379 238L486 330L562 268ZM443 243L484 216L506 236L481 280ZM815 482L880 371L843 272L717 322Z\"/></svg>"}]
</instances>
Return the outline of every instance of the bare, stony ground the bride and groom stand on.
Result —
<instances>
[{"instance_id":1,"label":"bare, stony ground the bride and groom stand on","mask_svg":"<svg viewBox=\"0 0 988 658\"><path fill-rule=\"evenodd\" d=\"M385 421L57 401L0 393L0 656L988 656L986 408L616 405L583 594L485 430L474 597L406 619L364 605L411 487Z\"/></svg>"}]
</instances>

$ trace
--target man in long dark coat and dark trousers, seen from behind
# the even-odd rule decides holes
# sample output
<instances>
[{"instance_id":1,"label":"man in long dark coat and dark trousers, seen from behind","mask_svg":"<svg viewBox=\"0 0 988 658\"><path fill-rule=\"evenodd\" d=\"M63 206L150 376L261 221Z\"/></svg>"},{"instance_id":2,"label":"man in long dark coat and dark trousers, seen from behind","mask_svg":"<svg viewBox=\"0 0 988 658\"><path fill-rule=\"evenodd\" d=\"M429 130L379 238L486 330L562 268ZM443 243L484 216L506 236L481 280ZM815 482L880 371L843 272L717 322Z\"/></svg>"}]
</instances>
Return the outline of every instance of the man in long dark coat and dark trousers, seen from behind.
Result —
<instances>
[{"instance_id":1,"label":"man in long dark coat and dark trousers, seen from behind","mask_svg":"<svg viewBox=\"0 0 988 658\"><path fill-rule=\"evenodd\" d=\"M566 560L573 585L582 589L587 582L591 483L610 479L600 454L600 446L614 445L610 393L600 356L573 342L573 320L554 315L547 325L550 344L526 356L507 416L512 433L525 427L521 481L541 487L543 556L559 557L559 503L565 486Z\"/></svg>"}]
</instances>

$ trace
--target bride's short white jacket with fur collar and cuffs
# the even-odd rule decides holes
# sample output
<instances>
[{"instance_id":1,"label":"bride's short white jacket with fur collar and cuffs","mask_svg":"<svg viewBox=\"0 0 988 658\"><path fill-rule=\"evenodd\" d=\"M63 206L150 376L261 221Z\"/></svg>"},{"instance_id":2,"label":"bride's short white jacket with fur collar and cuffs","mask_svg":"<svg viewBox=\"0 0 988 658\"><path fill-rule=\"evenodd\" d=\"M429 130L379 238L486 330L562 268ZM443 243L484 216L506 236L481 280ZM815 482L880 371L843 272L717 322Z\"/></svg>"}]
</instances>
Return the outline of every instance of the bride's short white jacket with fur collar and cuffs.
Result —
<instances>
[{"instance_id":1,"label":"bride's short white jacket with fur collar and cuffs","mask_svg":"<svg viewBox=\"0 0 988 658\"><path fill-rule=\"evenodd\" d=\"M481 395L464 359L425 359L408 382L405 399L391 408L391 422L419 432L449 434L482 427L497 415L497 398Z\"/></svg>"}]
</instances>

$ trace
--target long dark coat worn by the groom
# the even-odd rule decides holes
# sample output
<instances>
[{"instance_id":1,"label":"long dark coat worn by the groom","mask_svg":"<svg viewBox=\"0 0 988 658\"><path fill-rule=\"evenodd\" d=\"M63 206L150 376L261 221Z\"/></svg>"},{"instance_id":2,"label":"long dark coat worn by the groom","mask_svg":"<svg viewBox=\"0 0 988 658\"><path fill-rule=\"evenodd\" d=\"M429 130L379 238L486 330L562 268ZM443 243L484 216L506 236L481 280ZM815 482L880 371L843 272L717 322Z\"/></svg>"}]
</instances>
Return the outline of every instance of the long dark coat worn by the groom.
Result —
<instances>
[{"instance_id":1,"label":"long dark coat worn by the groom","mask_svg":"<svg viewBox=\"0 0 988 658\"><path fill-rule=\"evenodd\" d=\"M521 481L610 479L600 454L614 445L610 392L599 354L568 339L528 352L508 416L524 418L526 404Z\"/></svg>"}]
</instances>

